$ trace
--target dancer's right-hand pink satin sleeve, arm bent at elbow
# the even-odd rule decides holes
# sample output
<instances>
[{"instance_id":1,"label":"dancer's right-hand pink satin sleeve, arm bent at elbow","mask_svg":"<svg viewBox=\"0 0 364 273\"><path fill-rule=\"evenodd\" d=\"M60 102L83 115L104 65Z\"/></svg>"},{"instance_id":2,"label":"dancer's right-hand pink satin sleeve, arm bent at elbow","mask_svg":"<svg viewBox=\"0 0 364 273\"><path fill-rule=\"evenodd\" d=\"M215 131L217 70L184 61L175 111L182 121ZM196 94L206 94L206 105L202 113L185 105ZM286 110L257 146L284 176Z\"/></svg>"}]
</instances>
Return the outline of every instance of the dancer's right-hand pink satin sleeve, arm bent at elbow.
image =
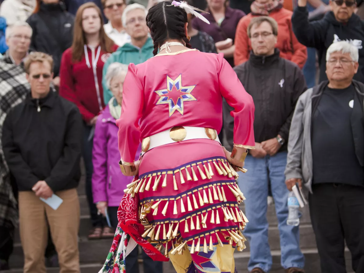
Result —
<instances>
[{"instance_id":1,"label":"dancer's right-hand pink satin sleeve, arm bent at elbow","mask_svg":"<svg viewBox=\"0 0 364 273\"><path fill-rule=\"evenodd\" d=\"M227 104L234 108L230 112L234 118L234 144L246 149L253 149L255 146L253 98L245 91L235 71L221 53L218 60L220 92Z\"/></svg>"}]
</instances>

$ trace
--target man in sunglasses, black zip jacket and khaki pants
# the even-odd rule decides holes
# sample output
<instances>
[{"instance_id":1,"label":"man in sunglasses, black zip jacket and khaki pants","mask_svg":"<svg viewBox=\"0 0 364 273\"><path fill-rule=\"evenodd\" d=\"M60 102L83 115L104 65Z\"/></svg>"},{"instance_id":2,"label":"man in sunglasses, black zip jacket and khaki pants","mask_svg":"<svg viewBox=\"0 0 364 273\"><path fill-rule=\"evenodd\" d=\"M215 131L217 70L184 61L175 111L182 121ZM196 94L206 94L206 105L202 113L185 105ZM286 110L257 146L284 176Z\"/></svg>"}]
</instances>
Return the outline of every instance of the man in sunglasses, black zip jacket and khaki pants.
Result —
<instances>
[{"instance_id":1,"label":"man in sunglasses, black zip jacket and khaki pants","mask_svg":"<svg viewBox=\"0 0 364 273\"><path fill-rule=\"evenodd\" d=\"M78 108L50 91L52 57L32 52L24 61L31 92L3 125L3 151L19 190L24 272L46 272L46 216L59 255L60 272L78 273L82 119ZM51 207L55 195L63 202ZM51 199L48 199L51 198Z\"/></svg>"}]
</instances>

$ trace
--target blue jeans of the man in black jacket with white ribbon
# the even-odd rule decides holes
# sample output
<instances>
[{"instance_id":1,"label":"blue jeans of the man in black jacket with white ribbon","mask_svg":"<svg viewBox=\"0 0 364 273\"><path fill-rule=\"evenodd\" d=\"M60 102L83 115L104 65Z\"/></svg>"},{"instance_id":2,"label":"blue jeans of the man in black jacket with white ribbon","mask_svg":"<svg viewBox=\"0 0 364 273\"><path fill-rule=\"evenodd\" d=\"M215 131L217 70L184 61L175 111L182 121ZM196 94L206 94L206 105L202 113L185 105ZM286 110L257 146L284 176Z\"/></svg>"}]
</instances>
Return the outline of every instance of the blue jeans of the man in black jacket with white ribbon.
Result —
<instances>
[{"instance_id":1,"label":"blue jeans of the man in black jacket with white ribbon","mask_svg":"<svg viewBox=\"0 0 364 273\"><path fill-rule=\"evenodd\" d=\"M300 250L298 226L288 226L288 189L285 185L284 169L287 163L287 152L280 152L265 158L247 156L244 168L248 172L240 175L239 186L246 200L245 215L249 222L244 235L250 245L248 270L261 268L269 272L272 267L272 255L268 244L267 197L268 183L272 187L274 205L278 218L280 233L281 264L284 269L290 267L304 268L305 258Z\"/></svg>"}]
</instances>

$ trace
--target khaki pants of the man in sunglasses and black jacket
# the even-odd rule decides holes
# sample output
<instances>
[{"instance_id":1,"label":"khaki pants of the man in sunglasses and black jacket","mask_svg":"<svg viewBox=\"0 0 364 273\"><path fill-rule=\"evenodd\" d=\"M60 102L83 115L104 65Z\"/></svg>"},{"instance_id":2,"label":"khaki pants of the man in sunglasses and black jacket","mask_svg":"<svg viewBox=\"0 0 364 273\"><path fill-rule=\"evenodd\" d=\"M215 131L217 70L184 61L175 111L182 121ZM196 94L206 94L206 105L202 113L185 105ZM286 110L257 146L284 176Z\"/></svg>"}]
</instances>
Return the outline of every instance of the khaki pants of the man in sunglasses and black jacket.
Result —
<instances>
[{"instance_id":1,"label":"khaki pants of the man in sunglasses and black jacket","mask_svg":"<svg viewBox=\"0 0 364 273\"><path fill-rule=\"evenodd\" d=\"M60 273L79 273L78 229L80 203L76 189L57 191L63 199L57 210L32 191L19 192L20 240L24 251L24 273L46 273L44 252L48 240L46 215L58 253Z\"/></svg>"}]
</instances>

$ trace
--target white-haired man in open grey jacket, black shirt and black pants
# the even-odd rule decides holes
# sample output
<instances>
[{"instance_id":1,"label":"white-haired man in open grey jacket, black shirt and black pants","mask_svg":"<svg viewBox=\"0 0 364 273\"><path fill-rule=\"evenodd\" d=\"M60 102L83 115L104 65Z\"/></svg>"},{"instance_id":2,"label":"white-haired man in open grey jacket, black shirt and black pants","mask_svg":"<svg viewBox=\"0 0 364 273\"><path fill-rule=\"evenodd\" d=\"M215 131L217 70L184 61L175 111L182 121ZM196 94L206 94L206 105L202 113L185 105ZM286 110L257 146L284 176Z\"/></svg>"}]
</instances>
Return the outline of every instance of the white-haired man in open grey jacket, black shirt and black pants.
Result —
<instances>
[{"instance_id":1,"label":"white-haired man in open grey jacket, black shirt and black pants","mask_svg":"<svg viewBox=\"0 0 364 273\"><path fill-rule=\"evenodd\" d=\"M353 80L358 49L340 41L327 50L327 81L297 102L285 170L289 190L309 190L322 273L343 273L345 241L355 272L364 272L364 84Z\"/></svg>"}]
</instances>

